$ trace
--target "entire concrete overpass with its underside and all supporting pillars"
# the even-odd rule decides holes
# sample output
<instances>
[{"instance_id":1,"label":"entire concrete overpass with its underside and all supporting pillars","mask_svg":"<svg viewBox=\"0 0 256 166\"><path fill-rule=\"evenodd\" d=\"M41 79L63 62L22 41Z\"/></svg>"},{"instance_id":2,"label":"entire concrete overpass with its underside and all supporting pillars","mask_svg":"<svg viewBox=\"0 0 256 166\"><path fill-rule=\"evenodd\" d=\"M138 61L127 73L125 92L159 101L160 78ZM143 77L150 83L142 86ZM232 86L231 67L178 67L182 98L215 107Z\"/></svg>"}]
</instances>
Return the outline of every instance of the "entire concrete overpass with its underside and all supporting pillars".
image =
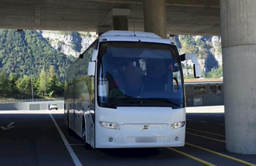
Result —
<instances>
[{"instance_id":1,"label":"entire concrete overpass with its underside and all supporting pillars","mask_svg":"<svg viewBox=\"0 0 256 166\"><path fill-rule=\"evenodd\" d=\"M0 28L222 36L226 149L256 154L256 0L0 0Z\"/></svg>"}]
</instances>

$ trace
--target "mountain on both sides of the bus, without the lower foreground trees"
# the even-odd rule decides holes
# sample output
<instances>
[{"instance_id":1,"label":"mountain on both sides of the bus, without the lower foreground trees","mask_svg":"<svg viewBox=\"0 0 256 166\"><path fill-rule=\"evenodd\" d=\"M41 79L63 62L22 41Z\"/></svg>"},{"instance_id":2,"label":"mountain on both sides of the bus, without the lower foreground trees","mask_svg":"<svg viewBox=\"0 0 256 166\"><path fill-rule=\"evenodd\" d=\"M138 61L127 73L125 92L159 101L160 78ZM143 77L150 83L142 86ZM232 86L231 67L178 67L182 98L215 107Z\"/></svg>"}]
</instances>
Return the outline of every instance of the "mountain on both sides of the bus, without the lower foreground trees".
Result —
<instances>
[{"instance_id":1,"label":"mountain on both sides of the bus, without the lower foreground trees","mask_svg":"<svg viewBox=\"0 0 256 166\"><path fill-rule=\"evenodd\" d=\"M50 65L54 65L59 77L65 78L67 67L96 38L95 32L0 29L0 69L19 76L39 75L44 67L48 70ZM180 54L193 53L198 57L204 77L215 77L212 70L222 73L219 36L175 35L171 39ZM183 63L183 71L185 77L193 76L190 61Z\"/></svg>"}]
</instances>

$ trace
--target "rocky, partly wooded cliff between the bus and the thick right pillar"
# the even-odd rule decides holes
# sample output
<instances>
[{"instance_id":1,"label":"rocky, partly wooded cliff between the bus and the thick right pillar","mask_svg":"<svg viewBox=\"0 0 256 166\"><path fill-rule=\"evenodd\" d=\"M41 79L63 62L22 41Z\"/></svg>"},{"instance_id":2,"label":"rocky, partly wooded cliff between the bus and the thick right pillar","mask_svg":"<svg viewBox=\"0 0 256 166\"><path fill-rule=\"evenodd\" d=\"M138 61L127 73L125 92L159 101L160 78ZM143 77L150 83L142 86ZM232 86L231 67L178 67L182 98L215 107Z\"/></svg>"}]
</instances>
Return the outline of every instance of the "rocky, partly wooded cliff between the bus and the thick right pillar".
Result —
<instances>
[{"instance_id":1,"label":"rocky, partly wooded cliff between the bus and the thick right pillar","mask_svg":"<svg viewBox=\"0 0 256 166\"><path fill-rule=\"evenodd\" d=\"M171 39L177 45L179 54L193 53L197 56L204 77L207 77L207 74L211 75L210 72L215 69L222 72L220 36L175 35ZM185 61L183 65L184 76L192 76L192 62ZM219 76L219 74L217 75Z\"/></svg>"}]
</instances>

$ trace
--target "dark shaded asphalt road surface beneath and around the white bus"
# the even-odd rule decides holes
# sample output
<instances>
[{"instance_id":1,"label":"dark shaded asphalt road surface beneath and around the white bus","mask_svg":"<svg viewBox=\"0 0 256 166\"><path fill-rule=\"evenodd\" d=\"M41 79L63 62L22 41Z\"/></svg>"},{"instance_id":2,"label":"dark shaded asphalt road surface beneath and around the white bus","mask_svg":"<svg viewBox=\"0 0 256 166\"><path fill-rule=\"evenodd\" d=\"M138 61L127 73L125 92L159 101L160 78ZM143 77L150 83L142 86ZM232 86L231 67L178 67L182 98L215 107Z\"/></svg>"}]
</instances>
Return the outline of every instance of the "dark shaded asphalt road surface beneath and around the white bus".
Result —
<instances>
[{"instance_id":1,"label":"dark shaded asphalt road surface beneath and around the white bus","mask_svg":"<svg viewBox=\"0 0 256 166\"><path fill-rule=\"evenodd\" d=\"M63 114L51 115L83 166L256 164L256 155L240 155L225 150L223 113L187 114L187 144L181 148L108 150L86 150L82 140L65 125ZM75 165L46 111L41 114L31 111L23 114L0 112L1 126L4 128L0 128L0 166Z\"/></svg>"}]
</instances>

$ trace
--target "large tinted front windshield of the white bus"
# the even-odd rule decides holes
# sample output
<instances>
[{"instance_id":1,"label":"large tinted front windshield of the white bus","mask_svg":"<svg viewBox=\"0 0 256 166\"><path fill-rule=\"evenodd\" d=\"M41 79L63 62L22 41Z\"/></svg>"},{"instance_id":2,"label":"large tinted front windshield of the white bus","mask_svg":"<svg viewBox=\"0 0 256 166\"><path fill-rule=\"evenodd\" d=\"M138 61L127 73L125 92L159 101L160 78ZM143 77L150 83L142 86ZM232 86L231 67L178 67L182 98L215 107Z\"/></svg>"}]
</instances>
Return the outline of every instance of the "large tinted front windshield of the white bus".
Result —
<instances>
[{"instance_id":1,"label":"large tinted front windshield of the white bus","mask_svg":"<svg viewBox=\"0 0 256 166\"><path fill-rule=\"evenodd\" d=\"M176 47L148 42L101 42L98 105L184 107Z\"/></svg>"}]
</instances>

